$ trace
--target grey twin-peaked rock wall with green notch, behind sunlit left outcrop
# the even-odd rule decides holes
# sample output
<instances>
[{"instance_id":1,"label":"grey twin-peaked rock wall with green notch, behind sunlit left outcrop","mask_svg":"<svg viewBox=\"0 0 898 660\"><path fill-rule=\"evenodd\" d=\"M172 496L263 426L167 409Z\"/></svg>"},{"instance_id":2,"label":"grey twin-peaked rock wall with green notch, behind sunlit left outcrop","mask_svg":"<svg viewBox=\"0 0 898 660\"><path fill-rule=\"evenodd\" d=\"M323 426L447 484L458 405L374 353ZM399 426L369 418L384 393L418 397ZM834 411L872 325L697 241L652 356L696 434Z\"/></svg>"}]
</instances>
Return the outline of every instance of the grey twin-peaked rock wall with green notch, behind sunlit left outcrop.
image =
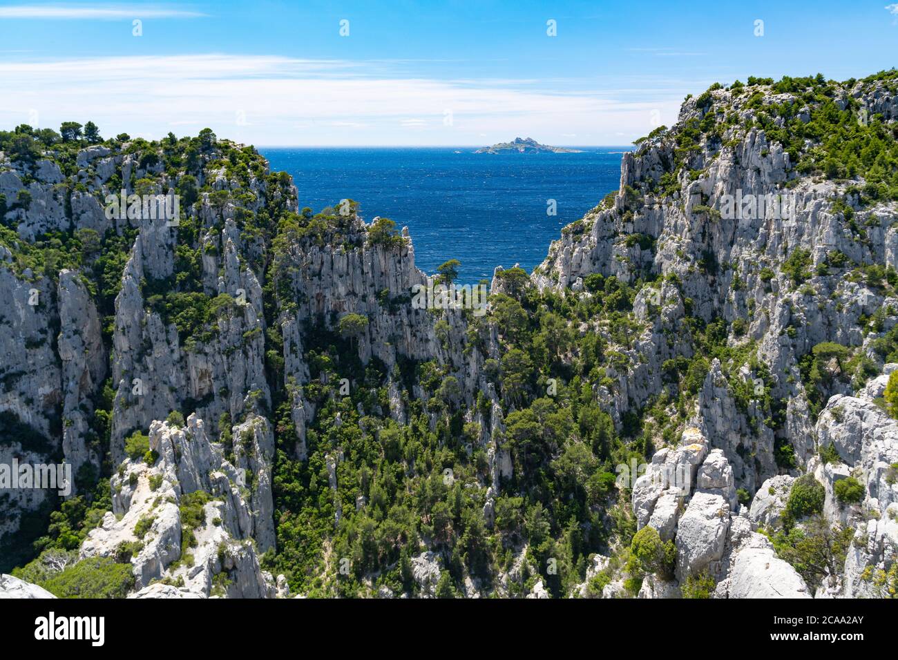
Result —
<instances>
[{"instance_id":1,"label":"grey twin-peaked rock wall with green notch, behind sunlit left outcrop","mask_svg":"<svg viewBox=\"0 0 898 660\"><path fill-rule=\"evenodd\" d=\"M148 264L158 263L157 252L171 251L172 247L167 242L147 243L143 233L138 235L116 298L112 338L112 376L117 384L112 427L115 458L121 458L121 443L128 433L180 410L186 400L207 402L198 406L197 412L213 420L214 429L225 413L231 418L241 416L251 392L260 392L262 400L270 401L264 367L261 287L251 269L240 266L234 242L228 236L235 232L233 222L225 223L225 254L223 263L216 267L224 268L224 275L219 277L216 291L210 292L230 296L233 303L220 308L211 338L190 338L184 346L173 323L166 325L157 312L145 309L141 286L146 277L171 274L171 267L149 268ZM166 374L165 382L155 374Z\"/></svg>"}]
</instances>

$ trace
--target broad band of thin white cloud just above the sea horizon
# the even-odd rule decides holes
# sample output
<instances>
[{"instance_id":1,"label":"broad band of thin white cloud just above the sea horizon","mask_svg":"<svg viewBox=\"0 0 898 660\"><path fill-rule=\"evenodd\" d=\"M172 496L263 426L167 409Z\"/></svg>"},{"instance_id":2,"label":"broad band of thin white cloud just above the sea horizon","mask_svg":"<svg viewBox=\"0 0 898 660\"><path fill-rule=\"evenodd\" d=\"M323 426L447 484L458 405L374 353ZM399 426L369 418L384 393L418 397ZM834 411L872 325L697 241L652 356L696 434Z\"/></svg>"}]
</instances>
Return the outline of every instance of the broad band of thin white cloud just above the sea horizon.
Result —
<instances>
[{"instance_id":1,"label":"broad band of thin white cloud just above the sea horizon","mask_svg":"<svg viewBox=\"0 0 898 660\"><path fill-rule=\"evenodd\" d=\"M533 135L548 144L576 134L581 144L607 145L671 122L683 95L617 98L608 87L590 91L590 81L578 92L381 69L372 75L370 68L231 54L0 63L0 127L91 119L106 135L155 138L208 126L255 145L472 145L483 134L497 142Z\"/></svg>"}]
</instances>

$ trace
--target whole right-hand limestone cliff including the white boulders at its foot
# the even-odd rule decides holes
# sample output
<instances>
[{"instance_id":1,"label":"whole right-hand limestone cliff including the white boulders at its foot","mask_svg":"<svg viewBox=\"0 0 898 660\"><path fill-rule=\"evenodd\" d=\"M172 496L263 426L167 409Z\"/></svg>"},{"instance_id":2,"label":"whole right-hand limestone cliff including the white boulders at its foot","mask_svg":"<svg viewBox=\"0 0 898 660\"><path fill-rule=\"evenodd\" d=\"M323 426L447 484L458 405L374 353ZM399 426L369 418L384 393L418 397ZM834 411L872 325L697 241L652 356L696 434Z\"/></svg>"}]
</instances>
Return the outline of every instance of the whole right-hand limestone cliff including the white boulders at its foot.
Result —
<instances>
[{"instance_id":1,"label":"whole right-hand limestone cliff including the white boulders at its foot","mask_svg":"<svg viewBox=\"0 0 898 660\"><path fill-rule=\"evenodd\" d=\"M794 550L785 537L774 537L794 483L776 476L783 471L813 474L823 484L820 533L835 537L833 547L844 546L830 558L826 576L814 577L822 581L816 595L882 595L894 588L890 466L898 444L890 435L894 419L874 403L887 375L852 394L870 374L894 369L884 365L889 351L883 348L898 309L889 270L895 267L898 206L882 194L883 172L873 158L865 163L874 165L866 169L869 179L856 173L864 169L856 161L833 173L827 136L814 139L812 130L796 136L802 133L797 125L810 127L821 113L837 112L842 124L864 128L878 114L879 134L894 139L894 84L830 84L823 93L806 92L806 84L778 92L781 86L712 88L687 100L674 128L659 129L624 155L618 193L566 228L533 273L541 289L579 296L590 295L585 285L595 273L627 282L665 280L660 290L647 286L637 295L640 318L654 298L655 321L645 330L648 340L629 347L636 353L630 383L612 393L621 412L669 389L659 368L667 355L694 354L694 332L683 332L679 314L671 313L682 302L688 300L702 321L723 321L726 345L735 348L724 352L723 365L712 360L689 424L701 433L695 447L707 442L722 450L721 483L732 488L735 477L735 486L754 496L751 513L747 506L739 510L735 499L706 497L700 477L696 488L701 454L691 461L692 492L668 494L652 466L682 462L699 450L681 445L655 453L633 489L633 509L640 528L655 528L663 541L675 539L677 563L673 582L658 583L655 576L640 596L671 597L696 576L717 583L718 597L814 594L774 551L774 545L787 555ZM850 154L862 154L862 142ZM886 170L885 180L892 174ZM779 198L788 207L770 203ZM633 396L633 381L644 396ZM818 454L831 446L837 458L824 461ZM781 447L788 461L781 460ZM849 478L863 487L851 506L834 488ZM808 524L798 524L797 538L819 532L808 531ZM852 530L854 540L845 543Z\"/></svg>"}]
</instances>

